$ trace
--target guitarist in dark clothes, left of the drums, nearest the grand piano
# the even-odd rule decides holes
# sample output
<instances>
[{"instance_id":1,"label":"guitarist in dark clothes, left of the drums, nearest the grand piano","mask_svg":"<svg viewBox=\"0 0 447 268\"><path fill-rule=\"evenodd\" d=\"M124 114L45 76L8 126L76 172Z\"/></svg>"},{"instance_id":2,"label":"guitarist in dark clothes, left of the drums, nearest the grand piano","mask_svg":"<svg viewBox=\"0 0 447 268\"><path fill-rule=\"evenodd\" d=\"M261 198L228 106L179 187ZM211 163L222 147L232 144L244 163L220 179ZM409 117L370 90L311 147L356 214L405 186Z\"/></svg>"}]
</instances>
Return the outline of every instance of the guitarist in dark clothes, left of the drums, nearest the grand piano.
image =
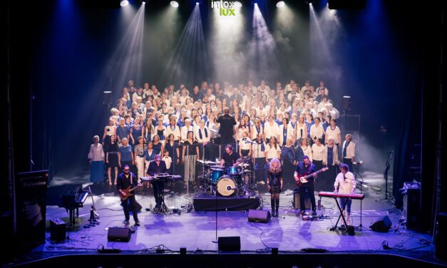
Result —
<instances>
[{"instance_id":1,"label":"guitarist in dark clothes, left of the drums, nearest the grand piano","mask_svg":"<svg viewBox=\"0 0 447 268\"><path fill-rule=\"evenodd\" d=\"M118 192L120 192L120 195L127 196L128 192L126 192L126 189L130 189L131 187L136 187L138 185L138 179L132 172L129 171L129 165L124 165L123 172L118 175L118 180L116 183L116 189ZM124 217L125 220L123 221L123 224L128 225L129 224L129 207L128 207L128 200L130 202L130 209L132 210L133 220L135 220L135 225L140 226L140 221L138 220L137 210L136 207L136 201L135 201L135 195L128 196L127 199L121 200L121 205L123 205L123 211L124 211Z\"/></svg>"}]
</instances>

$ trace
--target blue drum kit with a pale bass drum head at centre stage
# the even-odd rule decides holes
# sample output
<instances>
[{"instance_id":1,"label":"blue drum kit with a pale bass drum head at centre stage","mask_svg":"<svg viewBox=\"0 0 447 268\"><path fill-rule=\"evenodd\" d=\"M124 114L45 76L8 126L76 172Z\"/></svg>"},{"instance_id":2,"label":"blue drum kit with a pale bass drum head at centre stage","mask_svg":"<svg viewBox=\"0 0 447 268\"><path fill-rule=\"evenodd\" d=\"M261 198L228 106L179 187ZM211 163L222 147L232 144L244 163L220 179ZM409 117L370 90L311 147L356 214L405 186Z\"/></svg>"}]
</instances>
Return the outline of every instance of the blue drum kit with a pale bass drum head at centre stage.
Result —
<instances>
[{"instance_id":1,"label":"blue drum kit with a pale bass drum head at centre stage","mask_svg":"<svg viewBox=\"0 0 447 268\"><path fill-rule=\"evenodd\" d=\"M250 191L255 190L256 185L250 180L253 177L250 157L239 158L236 165L228 168L207 160L197 160L197 162L204 166L205 175L200 187L205 192L210 191L212 195L222 197L233 197L249 195Z\"/></svg>"}]
</instances>

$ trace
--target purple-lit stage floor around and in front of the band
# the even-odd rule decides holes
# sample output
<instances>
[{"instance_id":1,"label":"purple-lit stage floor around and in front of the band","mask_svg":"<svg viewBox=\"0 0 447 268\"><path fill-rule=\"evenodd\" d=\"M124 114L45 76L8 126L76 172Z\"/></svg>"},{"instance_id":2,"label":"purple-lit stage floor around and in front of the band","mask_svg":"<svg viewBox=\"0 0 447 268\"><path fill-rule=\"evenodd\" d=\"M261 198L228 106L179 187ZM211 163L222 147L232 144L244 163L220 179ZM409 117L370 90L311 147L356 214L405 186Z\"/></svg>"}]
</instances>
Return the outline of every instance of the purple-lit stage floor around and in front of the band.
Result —
<instances>
[{"instance_id":1,"label":"purple-lit stage floor around and in front of the band","mask_svg":"<svg viewBox=\"0 0 447 268\"><path fill-rule=\"evenodd\" d=\"M272 248L278 248L279 254L313 253L312 256L314 256L313 249L324 249L327 252L322 257L314 259L315 261L326 262L324 258L328 254L361 254L361 256L366 256L362 257L363 260L365 258L374 259L369 254L395 254L401 257L433 261L431 236L406 230L404 226L399 225L401 212L394 209L387 200L380 200L383 192L374 190L374 187L379 189L378 187L381 186L379 175L374 177L371 173L369 178L365 180L365 183L369 183L371 186L364 189L365 198L362 202L361 221L363 228L356 228L355 234L352 236L341 230L336 230L336 232L329 230L334 226L339 215L332 198L322 198L324 208L317 211L320 216L318 220L302 220L301 217L297 217L292 207L292 190L285 190L280 198L279 217L272 217L272 220L268 223L253 223L247 220L247 210L217 212L190 210L190 212L187 212L187 207L192 205L197 193L187 193L183 186L177 185L174 188L168 187L170 192L166 192L165 202L171 209L180 210L180 215L178 213L159 215L146 211L146 209L150 210L155 205L152 190L138 192L136 200L143 207L141 212L138 213L141 226L135 228L135 233L131 235L129 242L108 242L108 228L123 226L123 211L115 187L96 184L92 185L91 188L101 223L95 227L83 227L90 217L92 200L88 198L79 211L78 226L73 230L68 230L67 240L65 242L51 242L48 222L55 218L61 218L67 222L68 214L61 207L48 205L46 243L36 247L24 257L24 260L71 254L99 254L97 249L102 247L117 249L115 252L109 253L119 254L159 254L162 251L165 254L170 254L179 252L181 247L185 247L188 254L217 253L218 247L215 241L218 237L240 237L241 253L247 254L271 254L270 250ZM52 185L57 184L57 181L52 182ZM84 185L88 185L88 183ZM52 192L52 187L48 188L48 192ZM317 192L316 197L318 199ZM52 202L51 197L48 202ZM270 210L269 195L264 191L260 192L260 206L257 208ZM358 226L360 223L359 200L353 200L352 210L352 224ZM391 230L385 233L370 230L371 223L384 215L388 215L392 222ZM130 217L130 225L133 225L132 217ZM386 249L387 247L384 247L384 244L390 249ZM309 249L309 252L302 251L302 249ZM382 255L382 257L384 256ZM101 259L103 258L105 257L102 256ZM359 258L359 260L362 258ZM339 257L339 259L339 263L342 264L342 258ZM110 260L108 259L109 262ZM268 259L265 261L269 262ZM53 259L51 262L56 264L59 261ZM131 262L135 262L135 259ZM175 266L173 262L173 259L170 259L169 263ZM404 260L400 259L397 262L404 263ZM245 265L245 262L234 265L231 262L221 264L224 267L238 266L240 264ZM286 263L284 262L284 264ZM288 261L287 265L289 265Z\"/></svg>"}]
</instances>

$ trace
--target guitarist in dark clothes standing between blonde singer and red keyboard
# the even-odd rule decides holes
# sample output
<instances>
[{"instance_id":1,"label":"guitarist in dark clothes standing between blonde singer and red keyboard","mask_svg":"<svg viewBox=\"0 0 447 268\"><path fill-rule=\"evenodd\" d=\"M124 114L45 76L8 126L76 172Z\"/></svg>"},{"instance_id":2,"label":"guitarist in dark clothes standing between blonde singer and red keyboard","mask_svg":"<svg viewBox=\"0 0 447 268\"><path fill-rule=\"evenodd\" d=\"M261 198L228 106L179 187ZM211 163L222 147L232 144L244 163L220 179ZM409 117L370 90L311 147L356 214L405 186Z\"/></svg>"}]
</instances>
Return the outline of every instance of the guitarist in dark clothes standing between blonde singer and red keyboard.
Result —
<instances>
[{"instance_id":1,"label":"guitarist in dark clothes standing between blonde singer and red keyboard","mask_svg":"<svg viewBox=\"0 0 447 268\"><path fill-rule=\"evenodd\" d=\"M315 165L310 162L309 157L307 155L304 155L303 160L298 163L297 170L295 170L294 174L295 181L298 181L299 177L309 175L316 171L317 170L315 168ZM309 177L309 179L307 179L307 182L302 183L302 185L299 187L299 209L301 210L299 214L300 213L304 214L304 212L306 212L304 197L306 196L306 189L307 189L307 192L309 193L310 197L310 204L312 206L312 215L317 215L317 206L315 205L315 195L314 195L314 179L316 177L317 175Z\"/></svg>"}]
</instances>

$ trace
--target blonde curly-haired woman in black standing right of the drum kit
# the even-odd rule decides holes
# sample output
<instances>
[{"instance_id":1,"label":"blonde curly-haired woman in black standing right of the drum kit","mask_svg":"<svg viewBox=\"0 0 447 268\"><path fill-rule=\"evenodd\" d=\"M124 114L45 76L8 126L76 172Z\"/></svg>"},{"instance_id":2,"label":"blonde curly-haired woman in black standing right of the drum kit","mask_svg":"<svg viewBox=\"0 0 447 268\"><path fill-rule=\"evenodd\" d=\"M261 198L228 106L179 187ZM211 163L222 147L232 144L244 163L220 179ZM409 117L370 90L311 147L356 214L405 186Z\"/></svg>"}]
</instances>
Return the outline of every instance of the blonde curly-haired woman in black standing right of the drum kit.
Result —
<instances>
[{"instance_id":1,"label":"blonde curly-haired woman in black standing right of the drum kit","mask_svg":"<svg viewBox=\"0 0 447 268\"><path fill-rule=\"evenodd\" d=\"M277 158L270 160L269 175L267 176L267 190L270 192L272 217L278 217L279 193L282 190L282 167Z\"/></svg>"}]
</instances>

